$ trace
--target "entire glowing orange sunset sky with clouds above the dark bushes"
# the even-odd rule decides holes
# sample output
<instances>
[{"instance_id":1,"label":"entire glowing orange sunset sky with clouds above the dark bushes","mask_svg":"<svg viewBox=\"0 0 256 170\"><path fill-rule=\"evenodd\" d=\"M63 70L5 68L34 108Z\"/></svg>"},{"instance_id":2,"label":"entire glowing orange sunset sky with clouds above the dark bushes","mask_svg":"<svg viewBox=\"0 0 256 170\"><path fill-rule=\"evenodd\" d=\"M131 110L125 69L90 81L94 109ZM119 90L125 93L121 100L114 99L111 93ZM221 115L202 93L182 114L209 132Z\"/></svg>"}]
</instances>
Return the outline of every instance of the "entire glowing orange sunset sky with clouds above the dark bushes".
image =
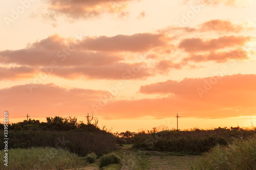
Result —
<instances>
[{"instance_id":1,"label":"entire glowing orange sunset sky with clouds above the dark bushes","mask_svg":"<svg viewBox=\"0 0 256 170\"><path fill-rule=\"evenodd\" d=\"M256 127L256 1L20 0L0 6L10 123L98 117L112 132Z\"/></svg>"}]
</instances>

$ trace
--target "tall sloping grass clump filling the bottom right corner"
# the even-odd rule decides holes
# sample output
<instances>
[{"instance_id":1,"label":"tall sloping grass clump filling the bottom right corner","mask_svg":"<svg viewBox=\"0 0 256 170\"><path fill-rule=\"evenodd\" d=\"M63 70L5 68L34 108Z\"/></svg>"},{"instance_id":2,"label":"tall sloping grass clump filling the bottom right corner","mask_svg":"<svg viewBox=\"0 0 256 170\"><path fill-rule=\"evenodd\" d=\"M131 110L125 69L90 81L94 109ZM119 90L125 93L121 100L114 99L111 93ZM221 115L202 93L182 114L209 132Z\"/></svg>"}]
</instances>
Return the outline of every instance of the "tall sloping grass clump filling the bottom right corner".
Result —
<instances>
[{"instance_id":1,"label":"tall sloping grass clump filling the bottom right corner","mask_svg":"<svg viewBox=\"0 0 256 170\"><path fill-rule=\"evenodd\" d=\"M191 169L256 169L256 138L236 139L226 147L217 145L191 165Z\"/></svg>"}]
</instances>

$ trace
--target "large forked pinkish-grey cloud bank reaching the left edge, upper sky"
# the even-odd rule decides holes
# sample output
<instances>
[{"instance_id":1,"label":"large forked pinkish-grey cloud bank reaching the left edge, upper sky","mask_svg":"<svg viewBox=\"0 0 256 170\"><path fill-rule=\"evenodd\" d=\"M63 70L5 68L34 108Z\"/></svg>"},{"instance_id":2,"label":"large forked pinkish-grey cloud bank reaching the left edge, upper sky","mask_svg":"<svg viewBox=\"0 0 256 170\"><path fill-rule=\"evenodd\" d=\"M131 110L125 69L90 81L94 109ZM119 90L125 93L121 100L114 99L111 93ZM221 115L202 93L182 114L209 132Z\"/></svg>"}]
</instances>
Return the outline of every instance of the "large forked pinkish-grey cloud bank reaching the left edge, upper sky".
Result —
<instances>
[{"instance_id":1,"label":"large forked pinkish-grey cloud bank reaching the left edge, upper sky","mask_svg":"<svg viewBox=\"0 0 256 170\"><path fill-rule=\"evenodd\" d=\"M0 62L33 66L37 72L66 79L144 79L152 76L145 64L125 63L123 54L110 52L142 52L164 43L161 35L147 33L81 41L52 35L21 50L0 51Z\"/></svg>"}]
</instances>

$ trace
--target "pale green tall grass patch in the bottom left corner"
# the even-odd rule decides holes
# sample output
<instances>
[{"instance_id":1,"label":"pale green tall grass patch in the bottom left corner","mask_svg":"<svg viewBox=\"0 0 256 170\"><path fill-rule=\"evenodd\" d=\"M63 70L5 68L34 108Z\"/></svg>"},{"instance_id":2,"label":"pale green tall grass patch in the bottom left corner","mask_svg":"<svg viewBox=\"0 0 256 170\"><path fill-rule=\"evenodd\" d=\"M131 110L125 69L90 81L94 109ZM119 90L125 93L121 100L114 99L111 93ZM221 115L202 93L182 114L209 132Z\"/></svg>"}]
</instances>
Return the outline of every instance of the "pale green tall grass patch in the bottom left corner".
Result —
<instances>
[{"instance_id":1,"label":"pale green tall grass patch in the bottom left corner","mask_svg":"<svg viewBox=\"0 0 256 170\"><path fill-rule=\"evenodd\" d=\"M0 151L0 157L5 152ZM30 148L8 150L8 166L2 162L0 169L66 169L76 167L78 156L67 150L55 148Z\"/></svg>"}]
</instances>

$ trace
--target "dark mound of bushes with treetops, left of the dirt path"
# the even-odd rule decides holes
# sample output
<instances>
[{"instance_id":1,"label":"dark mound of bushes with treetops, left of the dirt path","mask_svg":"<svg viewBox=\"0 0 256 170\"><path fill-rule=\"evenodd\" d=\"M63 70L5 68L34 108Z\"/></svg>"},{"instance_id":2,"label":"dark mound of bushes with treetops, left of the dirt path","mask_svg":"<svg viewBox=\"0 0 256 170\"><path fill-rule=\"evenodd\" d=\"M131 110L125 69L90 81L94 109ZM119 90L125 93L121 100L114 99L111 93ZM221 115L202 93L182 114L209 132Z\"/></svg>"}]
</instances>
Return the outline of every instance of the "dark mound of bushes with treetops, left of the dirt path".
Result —
<instances>
[{"instance_id":1,"label":"dark mound of bushes with treetops, left of the dirt path","mask_svg":"<svg viewBox=\"0 0 256 170\"><path fill-rule=\"evenodd\" d=\"M94 152L98 156L115 150L115 138L110 132L99 129L98 121L77 123L76 117L47 117L47 122L24 120L8 126L8 148L52 147L68 149L78 156ZM4 125L0 124L3 131ZM0 147L4 147L3 138Z\"/></svg>"}]
</instances>

